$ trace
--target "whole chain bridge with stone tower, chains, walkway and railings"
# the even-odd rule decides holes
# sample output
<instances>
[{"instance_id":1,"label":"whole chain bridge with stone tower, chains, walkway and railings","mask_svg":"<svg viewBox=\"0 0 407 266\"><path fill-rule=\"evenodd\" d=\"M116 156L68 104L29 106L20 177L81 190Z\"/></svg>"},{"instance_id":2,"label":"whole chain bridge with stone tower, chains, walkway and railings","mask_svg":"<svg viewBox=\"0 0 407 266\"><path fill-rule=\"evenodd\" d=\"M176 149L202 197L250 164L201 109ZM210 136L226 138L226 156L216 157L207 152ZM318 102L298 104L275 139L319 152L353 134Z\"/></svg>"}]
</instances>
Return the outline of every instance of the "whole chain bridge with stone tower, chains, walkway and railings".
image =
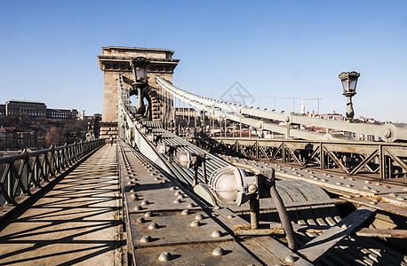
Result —
<instances>
[{"instance_id":1,"label":"whole chain bridge with stone tower, chains, walkway and railings","mask_svg":"<svg viewBox=\"0 0 407 266\"><path fill-rule=\"evenodd\" d=\"M0 264L407 265L403 124L206 98L174 51L102 51L100 139L0 159Z\"/></svg>"}]
</instances>

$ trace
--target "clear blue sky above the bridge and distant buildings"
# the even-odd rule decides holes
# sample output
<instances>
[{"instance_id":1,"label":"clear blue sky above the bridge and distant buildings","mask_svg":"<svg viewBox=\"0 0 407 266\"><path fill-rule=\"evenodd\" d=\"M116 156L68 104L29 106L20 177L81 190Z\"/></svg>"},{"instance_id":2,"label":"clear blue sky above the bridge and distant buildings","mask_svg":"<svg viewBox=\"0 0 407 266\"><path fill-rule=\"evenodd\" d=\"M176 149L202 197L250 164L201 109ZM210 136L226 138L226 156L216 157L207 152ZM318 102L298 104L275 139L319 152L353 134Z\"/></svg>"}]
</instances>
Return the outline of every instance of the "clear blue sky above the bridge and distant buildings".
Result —
<instances>
[{"instance_id":1,"label":"clear blue sky above the bridge and distant buildings","mask_svg":"<svg viewBox=\"0 0 407 266\"><path fill-rule=\"evenodd\" d=\"M0 0L0 38L0 103L101 113L96 56L134 46L174 50L174 84L188 90L217 97L238 81L256 96L323 98L321 113L345 113L338 74L355 70L355 116L407 122L407 1Z\"/></svg>"}]
</instances>

